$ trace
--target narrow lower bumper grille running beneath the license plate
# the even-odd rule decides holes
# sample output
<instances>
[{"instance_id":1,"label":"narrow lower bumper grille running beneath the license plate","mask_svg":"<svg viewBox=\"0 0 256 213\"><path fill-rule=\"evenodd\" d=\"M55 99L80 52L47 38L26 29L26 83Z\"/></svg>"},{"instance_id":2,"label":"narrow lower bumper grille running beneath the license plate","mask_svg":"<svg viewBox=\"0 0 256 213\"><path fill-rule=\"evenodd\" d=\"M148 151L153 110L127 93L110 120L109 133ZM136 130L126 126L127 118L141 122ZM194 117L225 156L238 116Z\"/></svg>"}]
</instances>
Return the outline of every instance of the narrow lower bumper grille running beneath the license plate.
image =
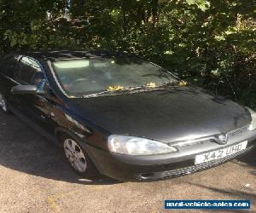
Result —
<instances>
[{"instance_id":1,"label":"narrow lower bumper grille running beneath the license plate","mask_svg":"<svg viewBox=\"0 0 256 213\"><path fill-rule=\"evenodd\" d=\"M220 158L217 160L212 160L211 162L203 163L203 164L195 164L192 166L188 166L182 169L176 169L176 170L168 170L168 171L162 171L162 172L154 172L154 173L148 173L148 174L141 174L137 177L140 181L147 181L147 180L158 180L158 179L164 179L168 177L175 177L175 176L185 176L189 175L191 173L194 173L196 171L200 170L206 170L208 168L217 166L218 164L224 164L227 161L230 161L233 158L236 158L244 153L247 153L247 151L253 149L253 146L247 147L247 149L242 150L241 152L234 153L230 156L227 156L225 158Z\"/></svg>"}]
</instances>

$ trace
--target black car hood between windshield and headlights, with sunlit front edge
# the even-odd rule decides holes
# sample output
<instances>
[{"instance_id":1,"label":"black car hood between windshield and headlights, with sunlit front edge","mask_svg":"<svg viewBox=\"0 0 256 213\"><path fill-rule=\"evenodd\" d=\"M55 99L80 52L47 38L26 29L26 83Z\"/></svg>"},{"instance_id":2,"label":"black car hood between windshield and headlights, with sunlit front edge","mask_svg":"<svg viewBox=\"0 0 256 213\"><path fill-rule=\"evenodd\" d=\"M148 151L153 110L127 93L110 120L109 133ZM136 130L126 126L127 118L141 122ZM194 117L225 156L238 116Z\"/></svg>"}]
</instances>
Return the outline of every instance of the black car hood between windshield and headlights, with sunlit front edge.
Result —
<instances>
[{"instance_id":1,"label":"black car hood between windshield and headlights, with sunlit front edge","mask_svg":"<svg viewBox=\"0 0 256 213\"><path fill-rule=\"evenodd\" d=\"M111 134L166 143L225 133L251 122L245 107L194 87L70 101L80 116Z\"/></svg>"}]
</instances>

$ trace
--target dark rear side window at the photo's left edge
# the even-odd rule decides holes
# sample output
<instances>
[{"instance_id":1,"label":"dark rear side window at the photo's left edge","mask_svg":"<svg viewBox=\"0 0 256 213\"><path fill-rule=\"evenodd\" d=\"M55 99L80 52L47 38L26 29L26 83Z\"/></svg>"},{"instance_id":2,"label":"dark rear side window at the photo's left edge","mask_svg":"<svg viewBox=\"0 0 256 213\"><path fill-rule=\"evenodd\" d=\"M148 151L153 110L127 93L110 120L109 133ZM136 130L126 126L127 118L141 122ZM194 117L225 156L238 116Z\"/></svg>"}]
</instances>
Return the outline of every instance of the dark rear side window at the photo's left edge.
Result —
<instances>
[{"instance_id":1,"label":"dark rear side window at the photo's left edge","mask_svg":"<svg viewBox=\"0 0 256 213\"><path fill-rule=\"evenodd\" d=\"M6 55L3 56L0 62L0 72L3 75L8 76L9 78L14 77L15 67L17 65L17 56L15 55Z\"/></svg>"}]
</instances>

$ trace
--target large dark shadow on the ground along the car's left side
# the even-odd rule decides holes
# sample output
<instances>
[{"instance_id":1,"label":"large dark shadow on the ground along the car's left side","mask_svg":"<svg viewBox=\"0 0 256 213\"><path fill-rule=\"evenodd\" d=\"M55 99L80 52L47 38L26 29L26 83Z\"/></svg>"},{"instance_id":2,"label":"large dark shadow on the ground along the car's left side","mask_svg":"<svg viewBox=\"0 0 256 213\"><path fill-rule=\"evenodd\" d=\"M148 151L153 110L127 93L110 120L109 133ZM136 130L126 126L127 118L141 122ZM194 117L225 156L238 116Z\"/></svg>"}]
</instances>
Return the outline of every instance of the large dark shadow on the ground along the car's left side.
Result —
<instances>
[{"instance_id":1,"label":"large dark shadow on the ground along the car's left side","mask_svg":"<svg viewBox=\"0 0 256 213\"><path fill-rule=\"evenodd\" d=\"M14 115L0 112L0 165L33 176L85 185L112 185L105 176L85 180L67 164L60 147L32 130Z\"/></svg>"}]
</instances>

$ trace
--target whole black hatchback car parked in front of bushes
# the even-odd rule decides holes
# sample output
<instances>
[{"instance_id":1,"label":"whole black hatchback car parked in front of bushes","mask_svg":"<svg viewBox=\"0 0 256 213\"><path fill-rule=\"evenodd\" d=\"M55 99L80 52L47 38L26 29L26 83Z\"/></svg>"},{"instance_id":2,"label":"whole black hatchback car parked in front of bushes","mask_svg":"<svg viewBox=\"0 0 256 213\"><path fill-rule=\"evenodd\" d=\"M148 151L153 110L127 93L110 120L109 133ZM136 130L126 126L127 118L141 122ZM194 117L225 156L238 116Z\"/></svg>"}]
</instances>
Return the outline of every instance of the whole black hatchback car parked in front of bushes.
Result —
<instances>
[{"instance_id":1,"label":"whole black hatchback car parked in front of bushes","mask_svg":"<svg viewBox=\"0 0 256 213\"><path fill-rule=\"evenodd\" d=\"M255 145L256 114L133 55L4 55L0 107L63 147L86 177L156 180L204 170Z\"/></svg>"}]
</instances>

